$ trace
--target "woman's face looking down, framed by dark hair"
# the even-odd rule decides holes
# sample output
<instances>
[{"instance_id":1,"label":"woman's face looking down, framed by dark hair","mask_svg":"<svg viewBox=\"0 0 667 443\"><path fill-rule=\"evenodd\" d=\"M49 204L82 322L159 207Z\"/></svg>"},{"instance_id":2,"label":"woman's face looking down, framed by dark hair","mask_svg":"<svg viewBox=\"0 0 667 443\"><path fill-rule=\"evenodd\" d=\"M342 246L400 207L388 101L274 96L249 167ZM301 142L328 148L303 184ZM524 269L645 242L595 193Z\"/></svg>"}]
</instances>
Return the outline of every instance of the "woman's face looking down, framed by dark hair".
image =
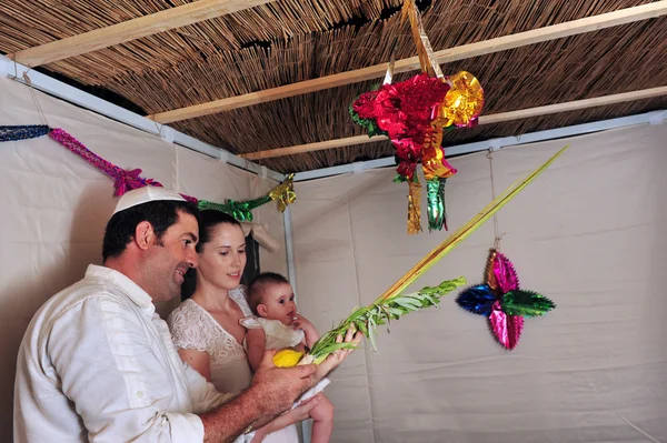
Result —
<instances>
[{"instance_id":1,"label":"woman's face looking down, framed by dark hair","mask_svg":"<svg viewBox=\"0 0 667 443\"><path fill-rule=\"evenodd\" d=\"M211 241L199 253L198 273L216 288L231 291L241 283L246 268L246 238L240 226L220 223L212 229Z\"/></svg>"}]
</instances>

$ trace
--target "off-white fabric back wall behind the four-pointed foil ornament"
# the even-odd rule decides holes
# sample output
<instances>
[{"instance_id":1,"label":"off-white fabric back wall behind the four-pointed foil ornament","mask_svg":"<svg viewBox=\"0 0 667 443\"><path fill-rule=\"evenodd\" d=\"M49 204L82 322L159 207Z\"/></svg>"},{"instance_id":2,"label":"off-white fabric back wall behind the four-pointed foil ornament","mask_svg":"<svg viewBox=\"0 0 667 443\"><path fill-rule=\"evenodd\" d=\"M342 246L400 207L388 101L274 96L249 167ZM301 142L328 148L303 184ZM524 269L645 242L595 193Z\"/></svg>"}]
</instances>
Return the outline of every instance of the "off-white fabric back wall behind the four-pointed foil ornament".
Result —
<instances>
[{"instance_id":1,"label":"off-white fabric back wall behind the four-pointed foil ornament","mask_svg":"<svg viewBox=\"0 0 667 443\"><path fill-rule=\"evenodd\" d=\"M571 142L499 212L521 285L557 303L526 320L515 351L452 293L379 332L327 393L335 442L666 442L667 125L504 149L497 192ZM455 159L450 230L490 200L485 153ZM328 330L368 304L446 232L406 234L407 187L390 169L298 183L292 208L300 311ZM425 210L424 203L422 209ZM426 218L426 212L422 213ZM426 224L426 222L425 222ZM414 286L481 281L492 222Z\"/></svg>"}]
</instances>

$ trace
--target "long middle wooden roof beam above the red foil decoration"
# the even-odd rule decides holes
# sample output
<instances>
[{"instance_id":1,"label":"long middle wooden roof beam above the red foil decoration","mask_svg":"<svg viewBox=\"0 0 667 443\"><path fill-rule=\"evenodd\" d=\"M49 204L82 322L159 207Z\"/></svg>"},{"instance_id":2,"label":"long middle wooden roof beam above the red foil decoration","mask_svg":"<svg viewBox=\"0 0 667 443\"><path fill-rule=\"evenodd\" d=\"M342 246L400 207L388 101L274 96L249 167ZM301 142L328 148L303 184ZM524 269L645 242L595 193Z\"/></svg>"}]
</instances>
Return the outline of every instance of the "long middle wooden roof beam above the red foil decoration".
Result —
<instances>
[{"instance_id":1,"label":"long middle wooden roof beam above the red foil decoration","mask_svg":"<svg viewBox=\"0 0 667 443\"><path fill-rule=\"evenodd\" d=\"M438 58L438 62L448 63L456 60L520 48L528 44L540 43L585 32L597 31L605 28L631 23L665 14L667 14L667 0L661 0L609 13L573 20L560 24L554 24L526 32L485 40L477 43L445 49L437 51L436 56ZM407 72L417 69L419 69L419 59L417 57L411 57L396 61L394 72ZM148 118L160 123L171 123L175 121L210 115L252 104L266 103L268 101L285 99L288 97L300 95L309 92L321 91L323 89L340 87L344 84L377 79L382 77L386 70L387 63L376 64L354 71L321 77L319 79L306 80L263 91L251 92L222 100L215 100L208 103L159 112L148 115Z\"/></svg>"}]
</instances>

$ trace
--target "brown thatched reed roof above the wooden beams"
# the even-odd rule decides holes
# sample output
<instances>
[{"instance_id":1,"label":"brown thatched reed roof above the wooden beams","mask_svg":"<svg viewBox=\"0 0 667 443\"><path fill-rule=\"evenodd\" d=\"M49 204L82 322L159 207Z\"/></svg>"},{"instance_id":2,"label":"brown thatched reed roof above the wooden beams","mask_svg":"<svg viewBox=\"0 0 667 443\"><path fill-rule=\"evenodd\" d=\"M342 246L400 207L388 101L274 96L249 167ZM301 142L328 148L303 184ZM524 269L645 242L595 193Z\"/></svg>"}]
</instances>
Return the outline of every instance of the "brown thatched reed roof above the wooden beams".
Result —
<instances>
[{"instance_id":1,"label":"brown thatched reed roof above the wooden beams","mask_svg":"<svg viewBox=\"0 0 667 443\"><path fill-rule=\"evenodd\" d=\"M0 2L10 53L186 3L183 0ZM178 109L415 56L401 0L280 0L43 67L125 97L146 113ZM427 4L428 3L428 4ZM418 2L435 50L623 8L640 0ZM472 72L485 114L667 85L667 17L442 66ZM398 75L399 80L407 74ZM378 80L379 81L379 80ZM364 133L350 101L378 81L281 99L172 125L235 153ZM446 144L516 135L667 108L667 97L448 132ZM281 172L392 154L389 142L263 160Z\"/></svg>"}]
</instances>

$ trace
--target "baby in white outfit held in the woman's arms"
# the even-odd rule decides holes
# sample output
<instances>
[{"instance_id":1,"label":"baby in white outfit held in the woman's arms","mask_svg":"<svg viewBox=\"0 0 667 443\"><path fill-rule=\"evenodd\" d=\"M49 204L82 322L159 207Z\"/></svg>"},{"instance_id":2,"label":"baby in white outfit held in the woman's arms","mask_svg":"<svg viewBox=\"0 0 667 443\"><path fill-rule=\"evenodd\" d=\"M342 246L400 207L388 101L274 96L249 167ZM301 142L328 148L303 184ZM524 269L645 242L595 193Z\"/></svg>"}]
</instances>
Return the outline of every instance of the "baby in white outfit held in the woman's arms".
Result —
<instances>
[{"instance_id":1,"label":"baby in white outfit held in the woman's arms","mask_svg":"<svg viewBox=\"0 0 667 443\"><path fill-rule=\"evenodd\" d=\"M248 361L256 371L266 349L293 348L303 351L312 346L319 333L308 320L297 313L295 293L287 279L266 272L248 286L250 308L257 316L241 320L248 329ZM312 443L329 442L334 431L334 405L327 397L310 411Z\"/></svg>"}]
</instances>

